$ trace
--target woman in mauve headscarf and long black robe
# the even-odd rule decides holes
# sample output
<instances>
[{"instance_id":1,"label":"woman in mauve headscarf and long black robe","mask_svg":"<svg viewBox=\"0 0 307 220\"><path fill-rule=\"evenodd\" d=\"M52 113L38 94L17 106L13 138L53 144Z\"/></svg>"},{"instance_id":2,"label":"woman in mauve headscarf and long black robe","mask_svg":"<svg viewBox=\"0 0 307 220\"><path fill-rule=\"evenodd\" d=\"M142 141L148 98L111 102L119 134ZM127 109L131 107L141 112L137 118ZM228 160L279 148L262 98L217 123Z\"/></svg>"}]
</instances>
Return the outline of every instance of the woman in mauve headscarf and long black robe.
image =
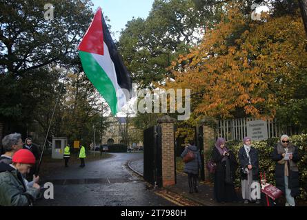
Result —
<instances>
[{"instance_id":1,"label":"woman in mauve headscarf and long black robe","mask_svg":"<svg viewBox=\"0 0 307 220\"><path fill-rule=\"evenodd\" d=\"M217 164L214 186L215 200L218 202L237 201L233 184L237 160L232 151L229 151L225 146L225 140L222 137L217 139L215 147L213 147L212 160Z\"/></svg>"}]
</instances>

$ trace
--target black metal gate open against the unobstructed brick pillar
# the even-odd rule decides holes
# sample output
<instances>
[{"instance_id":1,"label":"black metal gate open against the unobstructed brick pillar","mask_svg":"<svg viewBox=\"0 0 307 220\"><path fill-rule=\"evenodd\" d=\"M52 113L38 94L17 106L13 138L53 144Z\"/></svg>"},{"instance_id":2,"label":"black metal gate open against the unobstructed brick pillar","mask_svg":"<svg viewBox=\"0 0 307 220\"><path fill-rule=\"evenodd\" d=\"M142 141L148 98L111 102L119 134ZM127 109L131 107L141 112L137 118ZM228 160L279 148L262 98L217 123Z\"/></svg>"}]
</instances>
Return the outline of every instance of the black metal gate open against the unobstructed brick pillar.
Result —
<instances>
[{"instance_id":1,"label":"black metal gate open against the unobstructed brick pillar","mask_svg":"<svg viewBox=\"0 0 307 220\"><path fill-rule=\"evenodd\" d=\"M153 186L162 187L161 126L143 131L143 178Z\"/></svg>"}]
</instances>

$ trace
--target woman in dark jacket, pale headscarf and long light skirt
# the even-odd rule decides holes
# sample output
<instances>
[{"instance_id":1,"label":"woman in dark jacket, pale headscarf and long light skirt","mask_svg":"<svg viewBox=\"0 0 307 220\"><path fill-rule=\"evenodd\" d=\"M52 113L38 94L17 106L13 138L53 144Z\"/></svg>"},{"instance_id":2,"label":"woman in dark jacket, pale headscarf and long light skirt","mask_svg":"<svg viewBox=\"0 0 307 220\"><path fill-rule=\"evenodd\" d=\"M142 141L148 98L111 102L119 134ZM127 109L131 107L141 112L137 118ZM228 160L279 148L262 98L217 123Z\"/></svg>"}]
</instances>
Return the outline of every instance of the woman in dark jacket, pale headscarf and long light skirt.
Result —
<instances>
[{"instance_id":1,"label":"woman in dark jacket, pale headscarf and long light skirt","mask_svg":"<svg viewBox=\"0 0 307 220\"><path fill-rule=\"evenodd\" d=\"M241 173L241 190L244 203L260 203L259 157L258 151L251 145L250 137L244 137L243 146L239 149Z\"/></svg>"}]
</instances>

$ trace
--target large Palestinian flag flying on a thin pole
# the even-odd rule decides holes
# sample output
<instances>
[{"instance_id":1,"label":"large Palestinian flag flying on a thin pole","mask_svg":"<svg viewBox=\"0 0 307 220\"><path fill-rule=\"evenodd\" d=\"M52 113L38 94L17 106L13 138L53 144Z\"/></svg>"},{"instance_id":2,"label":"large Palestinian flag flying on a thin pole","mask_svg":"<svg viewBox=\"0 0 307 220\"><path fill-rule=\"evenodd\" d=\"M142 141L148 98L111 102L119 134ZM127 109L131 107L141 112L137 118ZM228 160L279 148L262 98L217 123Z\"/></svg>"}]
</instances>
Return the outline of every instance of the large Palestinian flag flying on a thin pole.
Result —
<instances>
[{"instance_id":1,"label":"large Palestinian flag flying on a thin pole","mask_svg":"<svg viewBox=\"0 0 307 220\"><path fill-rule=\"evenodd\" d=\"M115 115L129 100L132 85L128 69L117 52L101 8L97 10L78 50L86 76Z\"/></svg>"}]
</instances>

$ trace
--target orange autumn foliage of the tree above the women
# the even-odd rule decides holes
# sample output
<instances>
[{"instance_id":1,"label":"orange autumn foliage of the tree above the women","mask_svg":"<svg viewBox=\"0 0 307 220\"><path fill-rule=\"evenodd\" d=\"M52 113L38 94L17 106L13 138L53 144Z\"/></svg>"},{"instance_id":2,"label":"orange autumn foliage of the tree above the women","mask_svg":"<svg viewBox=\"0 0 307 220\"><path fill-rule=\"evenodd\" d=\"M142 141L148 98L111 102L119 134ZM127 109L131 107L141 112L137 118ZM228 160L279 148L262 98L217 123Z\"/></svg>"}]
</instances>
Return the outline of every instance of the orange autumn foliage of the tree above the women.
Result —
<instances>
[{"instance_id":1,"label":"orange autumn foliage of the tree above the women","mask_svg":"<svg viewBox=\"0 0 307 220\"><path fill-rule=\"evenodd\" d=\"M175 82L167 87L192 89L196 114L273 118L282 99L295 96L291 87L307 67L305 45L299 16L251 21L233 7L198 47L172 63Z\"/></svg>"}]
</instances>

